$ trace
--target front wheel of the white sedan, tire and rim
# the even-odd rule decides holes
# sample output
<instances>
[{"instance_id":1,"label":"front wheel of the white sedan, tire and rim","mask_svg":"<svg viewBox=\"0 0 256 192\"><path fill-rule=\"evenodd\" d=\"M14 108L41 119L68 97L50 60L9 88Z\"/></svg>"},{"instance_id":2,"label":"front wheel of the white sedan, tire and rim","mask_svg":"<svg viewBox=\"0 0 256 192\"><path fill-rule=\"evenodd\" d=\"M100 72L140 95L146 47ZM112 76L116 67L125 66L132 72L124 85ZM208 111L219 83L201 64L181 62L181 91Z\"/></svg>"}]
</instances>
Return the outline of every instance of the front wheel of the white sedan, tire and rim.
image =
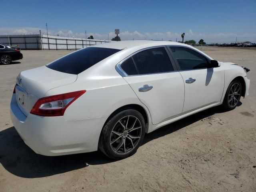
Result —
<instances>
[{"instance_id":1,"label":"front wheel of the white sedan, tire and rim","mask_svg":"<svg viewBox=\"0 0 256 192\"><path fill-rule=\"evenodd\" d=\"M226 110L233 110L236 108L238 102L240 101L242 94L242 85L238 80L234 80L228 86L226 91L222 106Z\"/></svg>"}]
</instances>

